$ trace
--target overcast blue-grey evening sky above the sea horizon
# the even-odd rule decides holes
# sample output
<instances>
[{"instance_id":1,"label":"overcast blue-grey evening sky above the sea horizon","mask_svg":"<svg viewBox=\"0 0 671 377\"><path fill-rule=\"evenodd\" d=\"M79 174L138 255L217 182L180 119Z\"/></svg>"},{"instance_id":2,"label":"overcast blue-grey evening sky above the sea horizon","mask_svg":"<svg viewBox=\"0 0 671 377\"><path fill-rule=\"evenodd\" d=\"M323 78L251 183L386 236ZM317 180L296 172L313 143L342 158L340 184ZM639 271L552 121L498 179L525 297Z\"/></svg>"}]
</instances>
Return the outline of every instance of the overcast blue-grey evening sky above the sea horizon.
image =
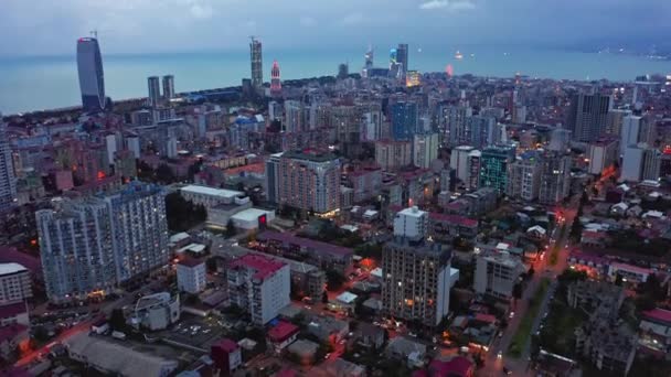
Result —
<instances>
[{"instance_id":1,"label":"overcast blue-grey evening sky above the sea horizon","mask_svg":"<svg viewBox=\"0 0 671 377\"><path fill-rule=\"evenodd\" d=\"M0 55L663 42L671 0L0 0Z\"/></svg>"}]
</instances>

